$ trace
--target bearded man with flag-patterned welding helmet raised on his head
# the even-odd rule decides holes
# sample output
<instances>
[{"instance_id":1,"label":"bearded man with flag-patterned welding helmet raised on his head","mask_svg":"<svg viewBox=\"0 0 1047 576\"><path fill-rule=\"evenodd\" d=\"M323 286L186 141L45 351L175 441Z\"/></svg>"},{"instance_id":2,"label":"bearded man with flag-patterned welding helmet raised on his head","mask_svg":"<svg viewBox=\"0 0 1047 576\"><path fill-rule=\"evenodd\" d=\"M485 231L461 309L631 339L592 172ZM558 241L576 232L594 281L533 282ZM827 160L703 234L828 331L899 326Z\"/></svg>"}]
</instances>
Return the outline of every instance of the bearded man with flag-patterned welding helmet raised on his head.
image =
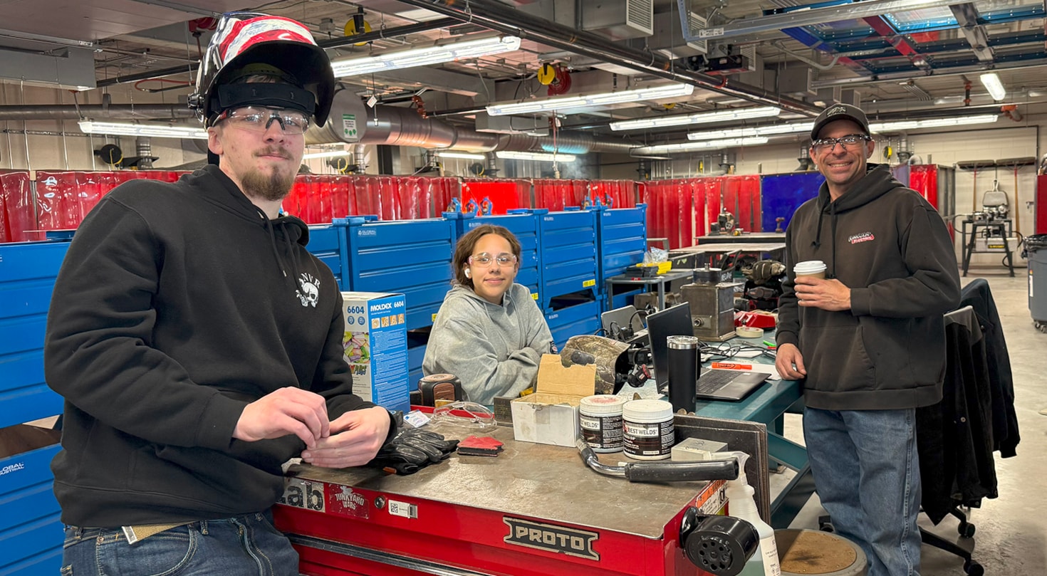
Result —
<instances>
[{"instance_id":1,"label":"bearded man with flag-patterned welding helmet raised on his head","mask_svg":"<svg viewBox=\"0 0 1047 576\"><path fill-rule=\"evenodd\" d=\"M77 229L44 350L63 573L296 575L282 464L358 466L395 430L352 394L334 276L280 214L333 88L308 28L226 15L191 97L215 165L124 184Z\"/></svg>"}]
</instances>

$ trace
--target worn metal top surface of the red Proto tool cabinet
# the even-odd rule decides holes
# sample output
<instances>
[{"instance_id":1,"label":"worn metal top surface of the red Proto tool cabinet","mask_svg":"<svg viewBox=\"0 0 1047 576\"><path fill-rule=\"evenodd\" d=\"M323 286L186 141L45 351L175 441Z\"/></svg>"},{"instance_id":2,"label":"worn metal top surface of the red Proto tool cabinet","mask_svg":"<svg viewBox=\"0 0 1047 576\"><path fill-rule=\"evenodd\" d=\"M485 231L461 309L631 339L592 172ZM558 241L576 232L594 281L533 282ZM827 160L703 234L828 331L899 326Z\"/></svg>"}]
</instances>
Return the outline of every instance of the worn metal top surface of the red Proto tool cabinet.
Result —
<instances>
[{"instance_id":1,"label":"worn metal top surface of the red Proto tool cabinet","mask_svg":"<svg viewBox=\"0 0 1047 576\"><path fill-rule=\"evenodd\" d=\"M665 526L708 485L707 482L632 484L589 469L575 448L516 442L510 427L461 434L437 427L448 437L475 434L505 443L497 458L452 455L410 475L391 475L375 468L329 469L294 465L288 471L303 480L374 490L386 495L422 499L487 509L505 514L612 530L660 538ZM628 460L622 452L600 455L602 462ZM448 518L450 520L451 518Z\"/></svg>"}]
</instances>

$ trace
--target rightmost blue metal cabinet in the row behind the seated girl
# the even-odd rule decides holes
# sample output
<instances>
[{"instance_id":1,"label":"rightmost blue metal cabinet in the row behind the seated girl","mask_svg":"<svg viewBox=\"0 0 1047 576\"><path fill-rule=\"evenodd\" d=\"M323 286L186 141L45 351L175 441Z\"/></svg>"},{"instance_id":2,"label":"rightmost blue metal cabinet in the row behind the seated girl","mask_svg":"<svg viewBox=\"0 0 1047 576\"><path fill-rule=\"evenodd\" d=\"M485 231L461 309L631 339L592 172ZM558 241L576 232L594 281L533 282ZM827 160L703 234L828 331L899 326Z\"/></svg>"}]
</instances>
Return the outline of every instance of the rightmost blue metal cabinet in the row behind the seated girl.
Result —
<instances>
[{"instance_id":1,"label":"rightmost blue metal cabinet in the row behind the seated girl","mask_svg":"<svg viewBox=\"0 0 1047 576\"><path fill-rule=\"evenodd\" d=\"M600 306L607 308L606 279L625 272L625 268L643 262L647 251L647 204L633 208L604 208L597 211L598 251L600 269ZM643 287L620 286L614 293L611 308L632 304L632 296L643 292Z\"/></svg>"}]
</instances>

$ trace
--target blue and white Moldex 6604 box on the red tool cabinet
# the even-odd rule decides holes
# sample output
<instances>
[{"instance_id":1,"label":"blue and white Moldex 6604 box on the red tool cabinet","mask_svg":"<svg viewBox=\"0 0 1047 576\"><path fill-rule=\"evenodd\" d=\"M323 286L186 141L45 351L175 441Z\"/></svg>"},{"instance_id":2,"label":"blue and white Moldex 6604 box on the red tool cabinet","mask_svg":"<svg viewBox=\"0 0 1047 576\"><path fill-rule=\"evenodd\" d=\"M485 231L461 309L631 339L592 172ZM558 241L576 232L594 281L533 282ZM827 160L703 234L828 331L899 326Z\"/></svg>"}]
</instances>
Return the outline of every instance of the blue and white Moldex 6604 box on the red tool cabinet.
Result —
<instances>
[{"instance_id":1,"label":"blue and white Moldex 6604 box on the red tool cabinet","mask_svg":"<svg viewBox=\"0 0 1047 576\"><path fill-rule=\"evenodd\" d=\"M342 292L342 348L353 393L386 409L410 412L406 301L403 294Z\"/></svg>"}]
</instances>

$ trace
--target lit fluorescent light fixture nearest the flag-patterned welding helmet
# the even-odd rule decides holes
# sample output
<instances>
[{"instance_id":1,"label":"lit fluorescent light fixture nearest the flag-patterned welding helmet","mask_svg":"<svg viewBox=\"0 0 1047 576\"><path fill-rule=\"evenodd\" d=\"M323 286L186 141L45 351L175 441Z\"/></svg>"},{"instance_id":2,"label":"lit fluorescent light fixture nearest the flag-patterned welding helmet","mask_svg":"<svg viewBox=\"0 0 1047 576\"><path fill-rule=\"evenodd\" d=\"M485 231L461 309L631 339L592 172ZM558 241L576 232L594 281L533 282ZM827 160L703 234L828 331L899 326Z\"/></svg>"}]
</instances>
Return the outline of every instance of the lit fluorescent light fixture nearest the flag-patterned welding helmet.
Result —
<instances>
[{"instance_id":1,"label":"lit fluorescent light fixture nearest the flag-patterned welding helmet","mask_svg":"<svg viewBox=\"0 0 1047 576\"><path fill-rule=\"evenodd\" d=\"M475 40L458 39L435 46L335 60L331 62L331 68L334 70L335 77L346 77L511 52L518 50L519 47L520 39L515 36L493 36Z\"/></svg>"}]
</instances>

